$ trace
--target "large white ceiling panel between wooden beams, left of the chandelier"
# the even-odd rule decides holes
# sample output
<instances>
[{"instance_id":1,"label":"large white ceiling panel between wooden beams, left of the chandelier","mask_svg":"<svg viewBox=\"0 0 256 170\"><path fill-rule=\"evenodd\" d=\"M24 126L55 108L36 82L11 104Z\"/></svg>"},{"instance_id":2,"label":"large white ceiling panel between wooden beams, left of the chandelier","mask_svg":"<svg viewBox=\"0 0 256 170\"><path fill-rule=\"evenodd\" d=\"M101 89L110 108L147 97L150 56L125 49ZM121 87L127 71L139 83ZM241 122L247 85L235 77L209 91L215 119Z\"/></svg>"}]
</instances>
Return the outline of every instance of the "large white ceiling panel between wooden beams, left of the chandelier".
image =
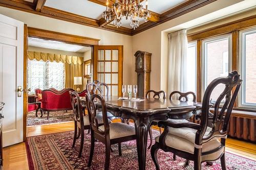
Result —
<instances>
[{"instance_id":1,"label":"large white ceiling panel between wooden beams, left of the chandelier","mask_svg":"<svg viewBox=\"0 0 256 170\"><path fill-rule=\"evenodd\" d=\"M100 19L105 10L104 6L88 0L47 0L45 6L93 19Z\"/></svg>"}]
</instances>

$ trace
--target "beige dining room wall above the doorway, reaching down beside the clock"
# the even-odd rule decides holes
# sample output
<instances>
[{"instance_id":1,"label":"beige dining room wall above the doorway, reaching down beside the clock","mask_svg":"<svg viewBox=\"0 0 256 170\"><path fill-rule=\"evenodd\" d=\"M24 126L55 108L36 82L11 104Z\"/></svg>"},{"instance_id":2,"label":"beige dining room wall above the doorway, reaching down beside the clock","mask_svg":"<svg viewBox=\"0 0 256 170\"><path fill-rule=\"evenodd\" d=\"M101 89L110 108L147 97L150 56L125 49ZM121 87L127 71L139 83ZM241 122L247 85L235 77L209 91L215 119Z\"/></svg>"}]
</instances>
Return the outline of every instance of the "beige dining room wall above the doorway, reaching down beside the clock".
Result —
<instances>
[{"instance_id":1,"label":"beige dining room wall above the doorway, reaching down beside the clock","mask_svg":"<svg viewBox=\"0 0 256 170\"><path fill-rule=\"evenodd\" d=\"M131 84L135 71L132 68L132 37L111 31L78 25L45 16L0 7L0 14L23 21L28 27L100 39L99 45L123 45L123 83ZM125 74L129 72L129 74Z\"/></svg>"}]
</instances>

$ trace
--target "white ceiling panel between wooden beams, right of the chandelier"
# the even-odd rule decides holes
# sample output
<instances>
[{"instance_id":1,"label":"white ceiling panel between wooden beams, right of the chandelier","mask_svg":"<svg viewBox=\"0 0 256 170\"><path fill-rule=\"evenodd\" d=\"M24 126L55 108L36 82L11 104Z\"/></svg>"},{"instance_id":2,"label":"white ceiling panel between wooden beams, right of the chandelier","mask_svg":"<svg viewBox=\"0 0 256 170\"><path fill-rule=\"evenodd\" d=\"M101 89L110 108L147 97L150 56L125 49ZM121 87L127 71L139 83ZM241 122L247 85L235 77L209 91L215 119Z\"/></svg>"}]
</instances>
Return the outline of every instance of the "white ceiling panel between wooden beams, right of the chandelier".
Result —
<instances>
[{"instance_id":1,"label":"white ceiling panel between wooden beams, right of the chandelier","mask_svg":"<svg viewBox=\"0 0 256 170\"><path fill-rule=\"evenodd\" d=\"M148 0L148 10L156 12L158 14L162 14L186 1L187 0ZM146 1L143 1L141 3L144 8L145 2Z\"/></svg>"}]
</instances>

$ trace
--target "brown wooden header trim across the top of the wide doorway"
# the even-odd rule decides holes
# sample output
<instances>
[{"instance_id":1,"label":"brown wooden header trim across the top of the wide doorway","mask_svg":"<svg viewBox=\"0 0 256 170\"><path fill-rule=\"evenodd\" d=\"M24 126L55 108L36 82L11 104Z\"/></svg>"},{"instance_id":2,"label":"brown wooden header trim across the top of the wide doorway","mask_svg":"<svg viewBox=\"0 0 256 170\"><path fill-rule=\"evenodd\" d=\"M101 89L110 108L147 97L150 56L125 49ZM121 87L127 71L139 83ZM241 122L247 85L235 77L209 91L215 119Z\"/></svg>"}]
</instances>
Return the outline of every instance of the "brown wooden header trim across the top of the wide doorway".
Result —
<instances>
[{"instance_id":1,"label":"brown wooden header trim across the top of the wide doorway","mask_svg":"<svg viewBox=\"0 0 256 170\"><path fill-rule=\"evenodd\" d=\"M58 33L49 30L42 30L37 28L28 27L28 36L35 38L43 38L48 40L58 40L65 43L78 44L78 45L98 45L99 39L82 37L77 35Z\"/></svg>"}]
</instances>

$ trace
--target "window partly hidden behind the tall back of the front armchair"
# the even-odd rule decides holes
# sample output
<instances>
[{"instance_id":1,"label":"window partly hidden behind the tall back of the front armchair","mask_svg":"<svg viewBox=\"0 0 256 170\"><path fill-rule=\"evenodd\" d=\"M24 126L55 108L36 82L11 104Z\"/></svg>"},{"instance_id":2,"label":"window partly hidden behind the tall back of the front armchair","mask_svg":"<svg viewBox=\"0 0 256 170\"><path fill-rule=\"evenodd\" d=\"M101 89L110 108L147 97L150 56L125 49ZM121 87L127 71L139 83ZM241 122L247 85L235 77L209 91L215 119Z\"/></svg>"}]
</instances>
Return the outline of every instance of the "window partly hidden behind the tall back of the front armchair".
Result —
<instances>
[{"instance_id":1,"label":"window partly hidden behind the tall back of the front armchair","mask_svg":"<svg viewBox=\"0 0 256 170\"><path fill-rule=\"evenodd\" d=\"M202 95L210 82L218 77L228 76L231 70L231 35L218 36L203 40L202 44ZM225 85L218 85L211 94L215 102Z\"/></svg>"}]
</instances>

